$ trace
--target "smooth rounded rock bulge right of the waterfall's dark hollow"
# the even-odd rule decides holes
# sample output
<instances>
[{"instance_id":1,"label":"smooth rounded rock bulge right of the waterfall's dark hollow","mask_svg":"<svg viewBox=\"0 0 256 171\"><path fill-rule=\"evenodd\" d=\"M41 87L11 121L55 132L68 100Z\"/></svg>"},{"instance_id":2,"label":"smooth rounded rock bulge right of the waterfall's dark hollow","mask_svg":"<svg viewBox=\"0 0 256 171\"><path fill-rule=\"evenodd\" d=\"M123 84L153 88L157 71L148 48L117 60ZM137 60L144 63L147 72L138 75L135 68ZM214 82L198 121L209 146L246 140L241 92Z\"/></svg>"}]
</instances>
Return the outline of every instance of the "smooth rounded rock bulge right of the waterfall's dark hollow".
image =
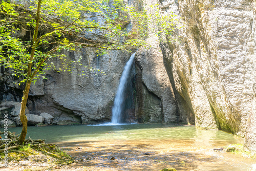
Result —
<instances>
[{"instance_id":1,"label":"smooth rounded rock bulge right of the waterfall's dark hollow","mask_svg":"<svg viewBox=\"0 0 256 171\"><path fill-rule=\"evenodd\" d=\"M148 51L141 50L140 52L138 52L138 56L136 59L139 62L142 70L142 82L144 83L143 94L146 95L146 91L148 91L155 94L156 97L160 98L163 105L163 116L159 116L159 119L161 119L162 117L162 119L164 119L166 123L175 122L175 120L177 119L175 117L177 106L173 98L172 87L170 85L166 70L163 66L161 52L154 49ZM148 96L143 99L144 103L148 101ZM148 104L148 108L144 108L144 112L146 113L145 110L150 109L149 107L152 105L154 105L153 102ZM153 112L153 114L154 113L155 112ZM161 108L160 111L157 113L161 114Z\"/></svg>"}]
</instances>

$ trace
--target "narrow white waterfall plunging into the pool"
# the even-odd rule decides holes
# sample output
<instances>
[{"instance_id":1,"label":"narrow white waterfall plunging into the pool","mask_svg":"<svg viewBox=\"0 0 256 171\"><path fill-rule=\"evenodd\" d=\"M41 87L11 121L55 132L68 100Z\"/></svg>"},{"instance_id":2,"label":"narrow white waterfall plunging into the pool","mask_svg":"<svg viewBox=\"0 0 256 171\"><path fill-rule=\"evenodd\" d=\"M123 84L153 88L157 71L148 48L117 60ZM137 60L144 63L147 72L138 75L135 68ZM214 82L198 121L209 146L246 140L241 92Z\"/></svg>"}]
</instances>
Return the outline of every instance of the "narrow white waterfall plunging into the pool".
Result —
<instances>
[{"instance_id":1,"label":"narrow white waterfall plunging into the pool","mask_svg":"<svg viewBox=\"0 0 256 171\"><path fill-rule=\"evenodd\" d=\"M114 106L112 109L112 124L120 123L121 121L121 114L123 113L123 102L124 102L124 91L125 91L125 85L127 82L127 79L129 79L129 74L131 67L133 65L135 53L132 54L130 59L127 61L122 76L120 78L120 83L118 86L117 94L114 101Z\"/></svg>"}]
</instances>

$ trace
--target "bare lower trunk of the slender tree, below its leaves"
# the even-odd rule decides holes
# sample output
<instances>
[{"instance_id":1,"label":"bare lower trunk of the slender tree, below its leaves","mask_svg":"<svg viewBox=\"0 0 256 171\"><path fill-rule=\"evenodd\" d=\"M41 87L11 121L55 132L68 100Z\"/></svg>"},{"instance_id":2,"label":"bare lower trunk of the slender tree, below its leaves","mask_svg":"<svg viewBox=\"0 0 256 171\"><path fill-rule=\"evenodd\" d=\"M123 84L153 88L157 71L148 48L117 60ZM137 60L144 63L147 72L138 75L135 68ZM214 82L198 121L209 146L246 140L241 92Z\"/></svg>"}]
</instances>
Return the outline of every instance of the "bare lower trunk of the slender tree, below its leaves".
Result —
<instances>
[{"instance_id":1,"label":"bare lower trunk of the slender tree, below its leaves","mask_svg":"<svg viewBox=\"0 0 256 171\"><path fill-rule=\"evenodd\" d=\"M19 136L19 143L23 144L27 135L27 130L28 130L28 119L27 116L25 115L25 110L26 110L26 104L29 96L29 89L31 85L31 79L27 79L26 87L23 91L23 97L22 97L22 106L20 107L20 112L19 112L19 118L20 121L22 122L22 133Z\"/></svg>"}]
</instances>

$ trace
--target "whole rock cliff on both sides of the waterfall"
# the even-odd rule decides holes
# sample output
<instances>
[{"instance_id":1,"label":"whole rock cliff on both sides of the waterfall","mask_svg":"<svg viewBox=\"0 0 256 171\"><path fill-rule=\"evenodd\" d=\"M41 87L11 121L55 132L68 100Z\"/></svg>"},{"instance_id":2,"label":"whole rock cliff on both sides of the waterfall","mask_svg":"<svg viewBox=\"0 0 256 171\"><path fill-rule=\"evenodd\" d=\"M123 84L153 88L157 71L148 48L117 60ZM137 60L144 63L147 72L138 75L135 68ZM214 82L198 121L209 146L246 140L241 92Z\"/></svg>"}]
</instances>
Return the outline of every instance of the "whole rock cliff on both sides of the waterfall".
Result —
<instances>
[{"instance_id":1,"label":"whole rock cliff on both sides of the waterfall","mask_svg":"<svg viewBox=\"0 0 256 171\"><path fill-rule=\"evenodd\" d=\"M148 38L153 48L137 52L136 97L131 104L135 105L135 120L190 123L231 132L245 137L246 149L256 152L256 2L138 2L140 7L159 4L162 15L174 12L183 27L176 32L179 41ZM47 80L31 87L30 114L49 113L54 117L52 123L109 121L130 54L112 51L97 56L93 48L63 53L74 59L82 56L84 65L103 70L105 75L87 71L82 77L77 75L83 70L79 67L72 74L49 71ZM20 101L22 87L12 84L10 78L1 68L0 101Z\"/></svg>"}]
</instances>

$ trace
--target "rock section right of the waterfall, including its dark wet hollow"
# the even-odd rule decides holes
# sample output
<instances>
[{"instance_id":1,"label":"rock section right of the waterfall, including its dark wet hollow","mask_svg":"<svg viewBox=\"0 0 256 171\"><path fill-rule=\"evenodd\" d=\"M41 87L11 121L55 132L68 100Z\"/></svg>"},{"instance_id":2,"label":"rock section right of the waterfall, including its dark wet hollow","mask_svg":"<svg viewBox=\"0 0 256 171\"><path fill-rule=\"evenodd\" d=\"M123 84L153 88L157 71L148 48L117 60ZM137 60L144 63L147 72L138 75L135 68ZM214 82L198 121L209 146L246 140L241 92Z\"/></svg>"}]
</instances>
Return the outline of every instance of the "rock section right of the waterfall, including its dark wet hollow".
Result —
<instances>
[{"instance_id":1,"label":"rock section right of the waterfall, including its dark wet hollow","mask_svg":"<svg viewBox=\"0 0 256 171\"><path fill-rule=\"evenodd\" d=\"M194 123L189 111L179 110L178 102L157 49L140 50L136 56L138 119L142 122ZM140 80L141 79L141 80Z\"/></svg>"}]
</instances>

